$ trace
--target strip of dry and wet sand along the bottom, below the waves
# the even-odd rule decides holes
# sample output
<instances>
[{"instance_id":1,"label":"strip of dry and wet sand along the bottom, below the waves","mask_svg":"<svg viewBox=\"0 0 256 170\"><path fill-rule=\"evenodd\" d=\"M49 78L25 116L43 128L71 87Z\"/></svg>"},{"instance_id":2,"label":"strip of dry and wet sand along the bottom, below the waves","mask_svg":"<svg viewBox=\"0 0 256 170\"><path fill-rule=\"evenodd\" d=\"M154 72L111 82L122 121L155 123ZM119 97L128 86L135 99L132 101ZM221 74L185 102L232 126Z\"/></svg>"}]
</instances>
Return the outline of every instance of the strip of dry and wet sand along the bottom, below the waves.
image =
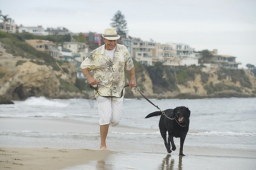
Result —
<instances>
[{"instance_id":1,"label":"strip of dry and wet sand along the bottom, below the waves","mask_svg":"<svg viewBox=\"0 0 256 170\"><path fill-rule=\"evenodd\" d=\"M256 158L116 152L85 148L0 147L0 169L253 169Z\"/></svg>"}]
</instances>

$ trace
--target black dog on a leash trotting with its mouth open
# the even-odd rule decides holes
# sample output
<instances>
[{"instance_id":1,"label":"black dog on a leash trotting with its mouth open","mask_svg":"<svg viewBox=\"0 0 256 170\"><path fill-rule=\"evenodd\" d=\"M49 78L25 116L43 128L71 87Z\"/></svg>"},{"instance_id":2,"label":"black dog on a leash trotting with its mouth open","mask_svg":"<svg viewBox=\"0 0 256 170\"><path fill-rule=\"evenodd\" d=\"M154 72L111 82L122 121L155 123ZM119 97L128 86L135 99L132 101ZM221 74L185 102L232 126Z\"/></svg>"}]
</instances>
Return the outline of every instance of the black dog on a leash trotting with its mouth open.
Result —
<instances>
[{"instance_id":1,"label":"black dog on a leash trotting with its mouth open","mask_svg":"<svg viewBox=\"0 0 256 170\"><path fill-rule=\"evenodd\" d=\"M175 151L176 146L173 141L173 137L181 138L181 145L179 148L179 155L183 154L183 145L188 132L188 126L190 125L190 110L186 107L177 107L175 109L166 109L163 111L153 112L148 114L145 118L160 116L159 129L162 135L163 141L165 141L165 147L168 153L171 150ZM168 131L168 143L166 141L166 131ZM171 146L170 146L171 142Z\"/></svg>"}]
</instances>

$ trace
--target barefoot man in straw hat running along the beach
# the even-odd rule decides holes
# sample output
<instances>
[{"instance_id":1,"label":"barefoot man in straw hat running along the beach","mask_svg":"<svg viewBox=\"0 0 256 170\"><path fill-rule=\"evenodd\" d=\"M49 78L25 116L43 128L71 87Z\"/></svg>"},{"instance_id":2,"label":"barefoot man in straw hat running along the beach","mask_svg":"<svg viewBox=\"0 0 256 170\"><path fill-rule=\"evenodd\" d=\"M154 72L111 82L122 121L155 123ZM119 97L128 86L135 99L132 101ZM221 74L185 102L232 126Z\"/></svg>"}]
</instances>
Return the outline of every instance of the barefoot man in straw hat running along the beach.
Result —
<instances>
[{"instance_id":1,"label":"barefoot man in straw hat running along the beach","mask_svg":"<svg viewBox=\"0 0 256 170\"><path fill-rule=\"evenodd\" d=\"M81 63L80 68L88 82L96 86L95 97L100 114L100 150L109 151L106 145L108 128L109 125L119 124L123 109L124 96L121 95L125 86L124 69L129 72L129 87L136 87L136 78L128 49L117 44L120 36L117 35L116 29L105 29L102 37L105 44L93 50ZM89 71L92 71L93 75Z\"/></svg>"}]
</instances>

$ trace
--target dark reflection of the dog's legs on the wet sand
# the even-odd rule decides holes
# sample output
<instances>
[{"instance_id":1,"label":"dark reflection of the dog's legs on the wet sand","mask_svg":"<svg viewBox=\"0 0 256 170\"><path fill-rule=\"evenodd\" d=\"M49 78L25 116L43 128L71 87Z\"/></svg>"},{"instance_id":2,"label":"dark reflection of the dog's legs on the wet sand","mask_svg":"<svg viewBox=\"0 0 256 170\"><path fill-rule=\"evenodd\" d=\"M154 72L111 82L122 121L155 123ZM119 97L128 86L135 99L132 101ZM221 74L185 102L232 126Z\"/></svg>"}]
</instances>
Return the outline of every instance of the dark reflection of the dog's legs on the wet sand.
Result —
<instances>
[{"instance_id":1,"label":"dark reflection of the dog's legs on the wet sand","mask_svg":"<svg viewBox=\"0 0 256 170\"><path fill-rule=\"evenodd\" d=\"M163 158L162 164L160 164L160 169L162 169L162 170L164 170L164 169L179 169L179 170L182 170L182 157L183 156L179 156L178 168L175 168L174 167L175 159L171 159L171 155L167 154L166 157Z\"/></svg>"}]
</instances>

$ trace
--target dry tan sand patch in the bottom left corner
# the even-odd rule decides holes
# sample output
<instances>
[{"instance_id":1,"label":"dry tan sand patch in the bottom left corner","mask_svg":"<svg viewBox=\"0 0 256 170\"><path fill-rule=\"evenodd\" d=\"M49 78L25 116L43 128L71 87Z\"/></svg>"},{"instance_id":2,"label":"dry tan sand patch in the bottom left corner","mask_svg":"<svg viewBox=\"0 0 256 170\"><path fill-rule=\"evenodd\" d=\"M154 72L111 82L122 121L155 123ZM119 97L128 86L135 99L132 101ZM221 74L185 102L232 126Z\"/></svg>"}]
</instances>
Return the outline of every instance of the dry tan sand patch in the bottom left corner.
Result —
<instances>
[{"instance_id":1,"label":"dry tan sand patch in the bottom left corner","mask_svg":"<svg viewBox=\"0 0 256 170\"><path fill-rule=\"evenodd\" d=\"M63 169L104 160L109 154L86 149L0 148L0 169Z\"/></svg>"}]
</instances>

